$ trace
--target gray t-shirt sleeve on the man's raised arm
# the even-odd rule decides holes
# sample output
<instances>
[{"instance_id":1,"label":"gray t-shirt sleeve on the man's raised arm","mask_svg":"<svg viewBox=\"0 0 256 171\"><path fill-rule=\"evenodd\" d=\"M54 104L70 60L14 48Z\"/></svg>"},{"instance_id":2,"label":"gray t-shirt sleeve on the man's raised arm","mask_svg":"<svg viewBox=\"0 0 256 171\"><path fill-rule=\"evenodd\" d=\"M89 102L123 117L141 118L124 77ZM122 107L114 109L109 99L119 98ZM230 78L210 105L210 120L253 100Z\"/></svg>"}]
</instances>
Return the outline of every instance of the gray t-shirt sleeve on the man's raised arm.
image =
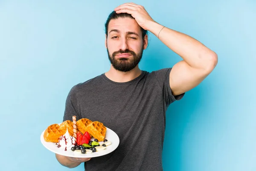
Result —
<instances>
[{"instance_id":1,"label":"gray t-shirt sleeve on the man's raised arm","mask_svg":"<svg viewBox=\"0 0 256 171\"><path fill-rule=\"evenodd\" d=\"M180 100L183 98L184 94L178 96L173 96L172 87L170 87L170 72L172 68L164 68L161 70L153 71L154 75L160 85L160 88L163 90L163 100L166 102L166 106L169 106L172 102Z\"/></svg>"}]
</instances>

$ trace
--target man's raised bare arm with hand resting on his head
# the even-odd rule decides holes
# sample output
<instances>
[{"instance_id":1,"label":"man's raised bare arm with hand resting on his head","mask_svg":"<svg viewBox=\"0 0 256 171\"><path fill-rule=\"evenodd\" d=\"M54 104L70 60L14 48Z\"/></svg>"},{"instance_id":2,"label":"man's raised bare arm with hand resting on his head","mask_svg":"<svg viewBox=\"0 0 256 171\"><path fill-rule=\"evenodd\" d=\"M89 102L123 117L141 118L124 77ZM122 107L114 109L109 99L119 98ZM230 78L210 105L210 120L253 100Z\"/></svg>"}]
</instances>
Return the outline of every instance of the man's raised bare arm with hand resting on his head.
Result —
<instances>
[{"instance_id":1,"label":"man's raised bare arm with hand resting on his head","mask_svg":"<svg viewBox=\"0 0 256 171\"><path fill-rule=\"evenodd\" d=\"M145 30L152 32L172 51L183 58L172 67L170 87L173 95L180 95L201 83L209 75L218 62L215 52L194 38L166 28L155 22L143 6L125 3L115 9L116 13L131 14Z\"/></svg>"}]
</instances>

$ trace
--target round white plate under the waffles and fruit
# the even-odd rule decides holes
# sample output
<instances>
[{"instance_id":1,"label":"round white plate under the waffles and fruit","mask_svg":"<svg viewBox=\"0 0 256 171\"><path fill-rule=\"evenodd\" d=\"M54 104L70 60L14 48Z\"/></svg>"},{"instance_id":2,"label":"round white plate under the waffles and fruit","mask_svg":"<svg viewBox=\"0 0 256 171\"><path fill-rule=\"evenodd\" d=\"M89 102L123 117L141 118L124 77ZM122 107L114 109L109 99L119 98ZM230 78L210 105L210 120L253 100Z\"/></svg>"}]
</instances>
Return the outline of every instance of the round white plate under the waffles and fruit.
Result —
<instances>
[{"instance_id":1,"label":"round white plate under the waffles and fruit","mask_svg":"<svg viewBox=\"0 0 256 171\"><path fill-rule=\"evenodd\" d=\"M81 154L79 152L72 151L72 150L64 151L64 148L58 148L55 142L44 141L44 131L42 132L41 138L40 138L41 143L44 145L44 147L47 148L49 151L52 151L55 154L60 154L62 156L67 156L67 157L92 158L92 157L104 156L104 155L109 154L112 151L114 151L119 145L118 135L113 130L107 128L107 131L105 134L105 139L108 139L108 141L111 141L112 144L106 146L105 150L96 151L96 152L89 153L89 154ZM94 138L91 138L91 140L93 141ZM99 144L102 144L102 143L103 143L103 141L99 142Z\"/></svg>"}]
</instances>

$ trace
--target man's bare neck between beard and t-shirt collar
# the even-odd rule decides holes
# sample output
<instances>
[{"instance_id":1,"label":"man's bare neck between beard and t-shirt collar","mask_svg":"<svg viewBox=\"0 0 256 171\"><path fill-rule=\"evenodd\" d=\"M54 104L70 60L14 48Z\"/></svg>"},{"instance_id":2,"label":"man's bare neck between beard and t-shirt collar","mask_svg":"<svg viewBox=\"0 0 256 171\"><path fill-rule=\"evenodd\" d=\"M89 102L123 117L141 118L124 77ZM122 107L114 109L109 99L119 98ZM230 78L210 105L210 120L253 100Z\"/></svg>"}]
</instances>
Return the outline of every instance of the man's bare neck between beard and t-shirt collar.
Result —
<instances>
[{"instance_id":1,"label":"man's bare neck between beard and t-shirt collar","mask_svg":"<svg viewBox=\"0 0 256 171\"><path fill-rule=\"evenodd\" d=\"M114 69L111 65L111 68L108 72L105 72L105 75L108 79L115 82L128 82L137 78L141 74L139 67L135 67L133 70L128 72L121 72Z\"/></svg>"}]
</instances>

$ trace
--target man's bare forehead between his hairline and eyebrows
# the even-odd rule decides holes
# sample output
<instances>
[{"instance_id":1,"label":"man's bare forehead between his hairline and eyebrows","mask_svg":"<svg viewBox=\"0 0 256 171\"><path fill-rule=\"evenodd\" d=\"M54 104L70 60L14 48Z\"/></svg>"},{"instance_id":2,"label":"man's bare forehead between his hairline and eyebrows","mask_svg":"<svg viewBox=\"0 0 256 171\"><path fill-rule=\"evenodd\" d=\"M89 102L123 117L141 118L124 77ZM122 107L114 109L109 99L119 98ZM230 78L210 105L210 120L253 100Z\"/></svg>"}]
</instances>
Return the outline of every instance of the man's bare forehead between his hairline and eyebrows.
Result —
<instances>
[{"instance_id":1,"label":"man's bare forehead between his hairline and eyebrows","mask_svg":"<svg viewBox=\"0 0 256 171\"><path fill-rule=\"evenodd\" d=\"M137 34L140 34L140 26L136 20L127 17L110 20L108 24L108 33L111 31L113 32L113 30L117 32L136 32Z\"/></svg>"}]
</instances>

